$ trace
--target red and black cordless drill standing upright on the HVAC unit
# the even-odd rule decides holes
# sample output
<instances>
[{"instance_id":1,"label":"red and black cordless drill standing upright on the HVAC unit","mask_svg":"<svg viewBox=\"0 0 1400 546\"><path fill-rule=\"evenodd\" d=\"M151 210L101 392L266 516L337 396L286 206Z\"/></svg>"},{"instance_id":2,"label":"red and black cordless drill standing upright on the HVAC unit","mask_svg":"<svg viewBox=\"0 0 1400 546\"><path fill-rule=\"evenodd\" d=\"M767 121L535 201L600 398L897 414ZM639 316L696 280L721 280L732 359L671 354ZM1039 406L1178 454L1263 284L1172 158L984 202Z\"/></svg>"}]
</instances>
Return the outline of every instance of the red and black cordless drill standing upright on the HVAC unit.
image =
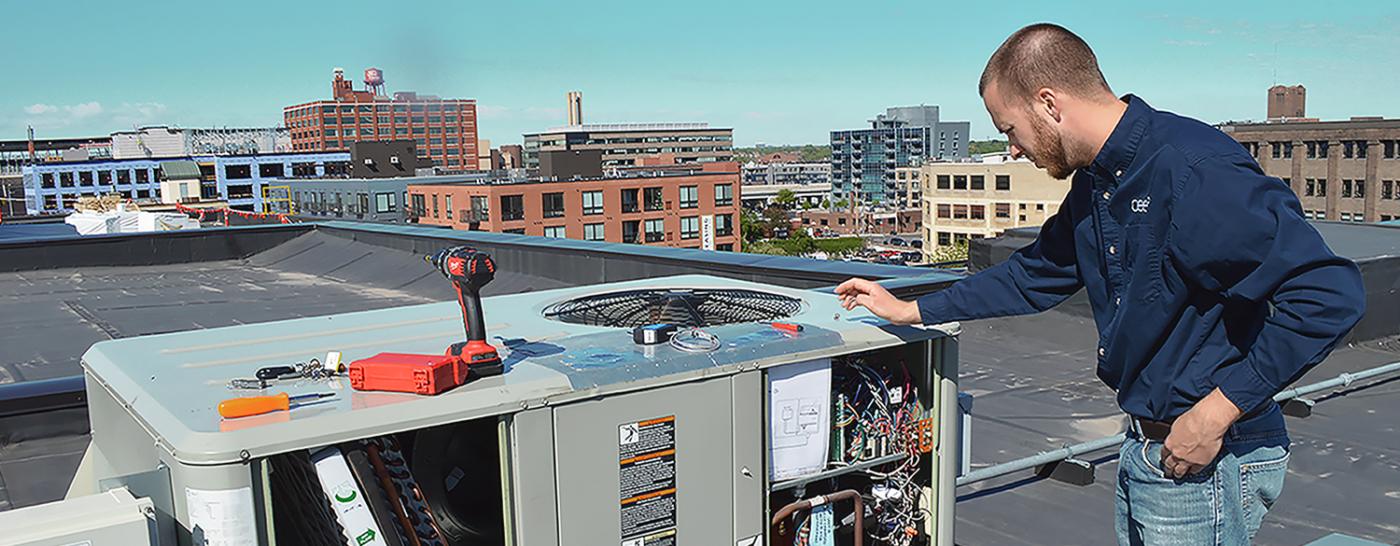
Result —
<instances>
[{"instance_id":1,"label":"red and black cordless drill standing upright on the HVAC unit","mask_svg":"<svg viewBox=\"0 0 1400 546\"><path fill-rule=\"evenodd\" d=\"M482 318L482 287L496 279L496 262L486 252L470 246L437 251L424 260L442 273L456 288L456 302L462 307L466 342L452 343L447 354L458 357L468 367L469 377L500 375L504 371L496 347L486 343L486 322ZM463 377L466 374L461 374Z\"/></svg>"}]
</instances>

